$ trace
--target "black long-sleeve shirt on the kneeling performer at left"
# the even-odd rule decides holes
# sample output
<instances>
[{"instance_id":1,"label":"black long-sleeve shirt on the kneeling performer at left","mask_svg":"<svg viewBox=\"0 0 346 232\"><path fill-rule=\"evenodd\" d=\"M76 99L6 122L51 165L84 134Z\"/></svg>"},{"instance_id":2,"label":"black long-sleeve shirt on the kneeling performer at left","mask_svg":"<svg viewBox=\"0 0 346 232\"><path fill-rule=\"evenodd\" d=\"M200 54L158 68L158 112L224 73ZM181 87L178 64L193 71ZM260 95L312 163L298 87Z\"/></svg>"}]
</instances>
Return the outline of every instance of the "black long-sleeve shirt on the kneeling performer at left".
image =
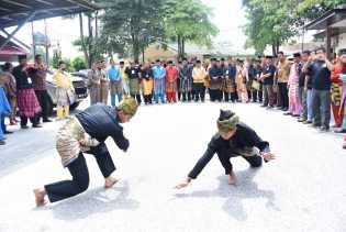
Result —
<instances>
[{"instance_id":1,"label":"black long-sleeve shirt on the kneeling performer at left","mask_svg":"<svg viewBox=\"0 0 346 232\"><path fill-rule=\"evenodd\" d=\"M111 136L119 148L127 151L130 143L119 124L116 108L98 103L77 113L76 118L86 132L101 143L99 148L103 148L101 146L105 146L104 141Z\"/></svg>"}]
</instances>

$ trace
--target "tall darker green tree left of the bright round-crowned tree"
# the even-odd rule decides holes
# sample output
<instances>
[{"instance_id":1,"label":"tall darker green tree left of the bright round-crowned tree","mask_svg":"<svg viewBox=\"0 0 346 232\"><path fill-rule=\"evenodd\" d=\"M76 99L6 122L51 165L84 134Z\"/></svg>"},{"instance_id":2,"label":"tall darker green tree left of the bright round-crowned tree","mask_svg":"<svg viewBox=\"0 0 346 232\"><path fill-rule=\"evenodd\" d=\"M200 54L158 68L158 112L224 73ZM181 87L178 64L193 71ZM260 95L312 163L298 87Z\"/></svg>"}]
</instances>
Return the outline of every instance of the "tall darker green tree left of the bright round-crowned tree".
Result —
<instances>
[{"instance_id":1,"label":"tall darker green tree left of the bright round-crowned tree","mask_svg":"<svg viewBox=\"0 0 346 232\"><path fill-rule=\"evenodd\" d=\"M131 53L135 60L150 43L165 36L163 19L168 0L99 0L105 5L100 34L104 52Z\"/></svg>"}]
</instances>

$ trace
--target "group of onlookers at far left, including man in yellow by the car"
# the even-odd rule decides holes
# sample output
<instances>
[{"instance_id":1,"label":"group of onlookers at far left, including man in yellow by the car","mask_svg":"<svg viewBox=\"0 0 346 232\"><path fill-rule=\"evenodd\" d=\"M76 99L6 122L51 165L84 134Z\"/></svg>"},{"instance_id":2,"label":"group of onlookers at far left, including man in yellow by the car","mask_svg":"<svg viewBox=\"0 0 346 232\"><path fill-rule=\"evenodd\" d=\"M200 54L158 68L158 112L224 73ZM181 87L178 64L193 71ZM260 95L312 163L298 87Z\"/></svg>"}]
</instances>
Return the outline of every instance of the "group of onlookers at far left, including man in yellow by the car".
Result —
<instances>
[{"instance_id":1,"label":"group of onlookers at far left, including man in yellow by the car","mask_svg":"<svg viewBox=\"0 0 346 232\"><path fill-rule=\"evenodd\" d=\"M69 75L65 71L66 64L60 62L54 75L56 84L57 118L64 119L69 114L69 106L74 102L75 93ZM19 56L19 65L13 67L5 63L0 71L0 145L5 144L5 134L12 134L5 125L20 123L26 130L27 121L32 128L42 128L42 123L52 122L49 117L49 96L46 77L48 68L42 55L35 56L34 64L29 64L26 55ZM18 114L20 120L18 120Z\"/></svg>"}]
</instances>

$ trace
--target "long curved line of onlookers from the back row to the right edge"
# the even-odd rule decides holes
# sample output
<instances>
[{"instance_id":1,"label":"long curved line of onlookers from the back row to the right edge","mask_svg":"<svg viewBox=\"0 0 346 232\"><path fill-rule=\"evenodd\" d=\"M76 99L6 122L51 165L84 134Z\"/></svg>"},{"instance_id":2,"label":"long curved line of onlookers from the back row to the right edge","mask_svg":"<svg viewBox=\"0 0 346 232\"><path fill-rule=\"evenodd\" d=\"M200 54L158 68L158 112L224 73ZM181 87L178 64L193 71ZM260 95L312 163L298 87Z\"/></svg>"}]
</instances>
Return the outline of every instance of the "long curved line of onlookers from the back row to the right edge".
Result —
<instances>
[{"instance_id":1,"label":"long curved line of onlookers from the back row to the right edge","mask_svg":"<svg viewBox=\"0 0 346 232\"><path fill-rule=\"evenodd\" d=\"M139 64L110 60L96 63L89 73L91 103L116 104L132 96L141 104L177 101L259 102L267 109L282 110L298 122L322 132L335 128L346 133L346 51L333 60L323 47L295 53L288 58L263 56L242 59L182 59ZM141 95L142 93L142 95ZM335 124L331 126L331 117ZM343 147L346 148L346 136Z\"/></svg>"}]
</instances>

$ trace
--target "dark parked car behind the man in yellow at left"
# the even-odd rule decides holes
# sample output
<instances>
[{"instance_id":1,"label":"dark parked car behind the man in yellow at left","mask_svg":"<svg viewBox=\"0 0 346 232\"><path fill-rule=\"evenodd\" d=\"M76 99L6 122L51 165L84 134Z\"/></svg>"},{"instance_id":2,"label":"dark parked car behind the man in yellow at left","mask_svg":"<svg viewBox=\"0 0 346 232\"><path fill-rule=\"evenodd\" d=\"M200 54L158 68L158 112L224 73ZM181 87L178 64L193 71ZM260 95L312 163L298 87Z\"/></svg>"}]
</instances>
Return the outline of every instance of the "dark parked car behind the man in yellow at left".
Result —
<instances>
[{"instance_id":1,"label":"dark parked car behind the man in yellow at left","mask_svg":"<svg viewBox=\"0 0 346 232\"><path fill-rule=\"evenodd\" d=\"M71 75L71 80L76 92L76 101L70 106L70 110L75 110L79 106L79 103L88 97L88 88L85 80L80 77ZM52 71L47 73L46 84L49 96L48 112L49 114L53 114L53 109L54 107L56 107L56 85L53 81Z\"/></svg>"}]
</instances>

